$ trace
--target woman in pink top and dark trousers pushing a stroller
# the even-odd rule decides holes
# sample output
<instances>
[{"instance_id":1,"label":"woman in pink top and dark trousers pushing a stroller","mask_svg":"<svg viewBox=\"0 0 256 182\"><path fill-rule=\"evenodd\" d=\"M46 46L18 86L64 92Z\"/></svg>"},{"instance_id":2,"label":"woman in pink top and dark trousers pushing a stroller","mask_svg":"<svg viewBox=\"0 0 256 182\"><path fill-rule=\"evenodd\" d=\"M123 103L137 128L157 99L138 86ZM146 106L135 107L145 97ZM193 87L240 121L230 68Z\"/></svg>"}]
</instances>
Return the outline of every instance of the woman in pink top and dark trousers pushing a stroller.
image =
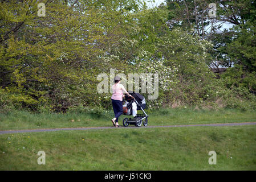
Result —
<instances>
[{"instance_id":1,"label":"woman in pink top and dark trousers pushing a stroller","mask_svg":"<svg viewBox=\"0 0 256 182\"><path fill-rule=\"evenodd\" d=\"M121 114L123 114L123 93L131 97L131 95L125 90L124 85L120 84L120 81L120 77L116 76L115 84L112 86L113 94L111 101L115 113L115 118L113 118L111 121L115 127L119 127L118 118Z\"/></svg>"}]
</instances>

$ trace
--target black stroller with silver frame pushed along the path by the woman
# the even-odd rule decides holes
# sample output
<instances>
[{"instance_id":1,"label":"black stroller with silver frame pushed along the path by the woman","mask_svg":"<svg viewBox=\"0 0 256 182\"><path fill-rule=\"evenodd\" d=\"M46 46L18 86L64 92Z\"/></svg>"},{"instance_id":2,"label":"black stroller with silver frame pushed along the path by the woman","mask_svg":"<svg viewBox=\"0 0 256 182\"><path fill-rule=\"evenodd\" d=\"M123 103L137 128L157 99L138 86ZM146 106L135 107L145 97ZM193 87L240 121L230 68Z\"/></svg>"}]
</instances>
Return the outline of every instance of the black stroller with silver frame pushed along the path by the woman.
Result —
<instances>
[{"instance_id":1,"label":"black stroller with silver frame pushed along the path by the woman","mask_svg":"<svg viewBox=\"0 0 256 182\"><path fill-rule=\"evenodd\" d=\"M125 127L131 125L135 125L140 127L143 123L144 126L148 126L148 114L144 111L146 107L145 97L141 96L139 93L131 93L132 97L125 96L123 105L123 114L124 115L132 115L135 108L132 108L132 105L137 107L136 110L142 110L143 114L136 114L133 118L124 118L123 125ZM135 105L136 104L136 105ZM144 120L144 121L143 121Z\"/></svg>"}]
</instances>

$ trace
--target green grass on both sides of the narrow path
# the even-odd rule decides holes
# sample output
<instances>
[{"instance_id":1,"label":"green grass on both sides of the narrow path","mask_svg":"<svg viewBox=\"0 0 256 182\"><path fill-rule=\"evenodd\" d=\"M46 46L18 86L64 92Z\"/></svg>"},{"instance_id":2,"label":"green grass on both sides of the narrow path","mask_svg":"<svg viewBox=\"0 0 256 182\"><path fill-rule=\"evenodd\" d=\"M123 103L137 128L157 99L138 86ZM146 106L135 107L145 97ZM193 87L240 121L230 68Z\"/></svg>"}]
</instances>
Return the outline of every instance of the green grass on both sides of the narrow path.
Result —
<instances>
[{"instance_id":1,"label":"green grass on both sides of the narrow path","mask_svg":"<svg viewBox=\"0 0 256 182\"><path fill-rule=\"evenodd\" d=\"M148 114L151 126L256 121L256 111L234 109ZM112 126L112 117L13 111L0 114L0 130ZM3 134L0 170L256 170L255 133L256 126L197 126ZM46 165L37 163L38 151L46 152ZM209 151L217 152L216 165L208 163Z\"/></svg>"}]
</instances>

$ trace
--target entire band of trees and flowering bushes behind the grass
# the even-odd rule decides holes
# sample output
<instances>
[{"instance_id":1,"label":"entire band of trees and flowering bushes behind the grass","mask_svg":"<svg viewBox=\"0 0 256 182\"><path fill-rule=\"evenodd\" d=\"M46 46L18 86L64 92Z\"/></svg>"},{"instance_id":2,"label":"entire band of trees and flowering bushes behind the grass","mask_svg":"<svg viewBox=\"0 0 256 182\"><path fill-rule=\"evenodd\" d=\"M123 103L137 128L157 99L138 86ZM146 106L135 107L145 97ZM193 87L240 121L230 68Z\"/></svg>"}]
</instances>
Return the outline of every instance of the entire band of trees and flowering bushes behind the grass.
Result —
<instances>
[{"instance_id":1,"label":"entire band of trees and flowering bushes behind the grass","mask_svg":"<svg viewBox=\"0 0 256 182\"><path fill-rule=\"evenodd\" d=\"M159 74L159 97L148 101L150 109L186 105L254 108L255 23L248 9L239 11L244 24L238 23L228 36L213 31L211 36L217 39L207 40L202 30L195 34L195 28L202 29L207 22L196 26L190 12L194 3L189 1L168 1L167 6L153 9L136 0L48 1L44 17L37 15L37 5L37 1L1 2L2 111L100 115L105 111L102 108L111 108L111 93L97 93L96 78L100 73L109 76L111 68L116 74ZM242 5L230 2L238 10ZM191 16L179 24L186 6ZM222 10L220 14L229 17L231 11ZM198 4L197 11L202 13L204 7ZM221 79L209 69L214 57L221 57L222 65L234 65ZM234 102L228 103L230 98Z\"/></svg>"}]
</instances>

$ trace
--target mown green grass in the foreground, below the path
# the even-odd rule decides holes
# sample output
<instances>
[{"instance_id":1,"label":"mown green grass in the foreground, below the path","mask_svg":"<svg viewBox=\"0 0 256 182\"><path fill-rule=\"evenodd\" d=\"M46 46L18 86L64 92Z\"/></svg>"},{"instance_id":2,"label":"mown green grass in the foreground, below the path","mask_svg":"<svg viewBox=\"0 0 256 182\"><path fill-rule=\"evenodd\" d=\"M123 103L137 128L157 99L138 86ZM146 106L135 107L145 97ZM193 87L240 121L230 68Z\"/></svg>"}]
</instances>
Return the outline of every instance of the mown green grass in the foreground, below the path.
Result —
<instances>
[{"instance_id":1,"label":"mown green grass in the foreground, below the path","mask_svg":"<svg viewBox=\"0 0 256 182\"><path fill-rule=\"evenodd\" d=\"M255 133L256 126L198 126L5 134L0 170L256 170Z\"/></svg>"}]
</instances>

